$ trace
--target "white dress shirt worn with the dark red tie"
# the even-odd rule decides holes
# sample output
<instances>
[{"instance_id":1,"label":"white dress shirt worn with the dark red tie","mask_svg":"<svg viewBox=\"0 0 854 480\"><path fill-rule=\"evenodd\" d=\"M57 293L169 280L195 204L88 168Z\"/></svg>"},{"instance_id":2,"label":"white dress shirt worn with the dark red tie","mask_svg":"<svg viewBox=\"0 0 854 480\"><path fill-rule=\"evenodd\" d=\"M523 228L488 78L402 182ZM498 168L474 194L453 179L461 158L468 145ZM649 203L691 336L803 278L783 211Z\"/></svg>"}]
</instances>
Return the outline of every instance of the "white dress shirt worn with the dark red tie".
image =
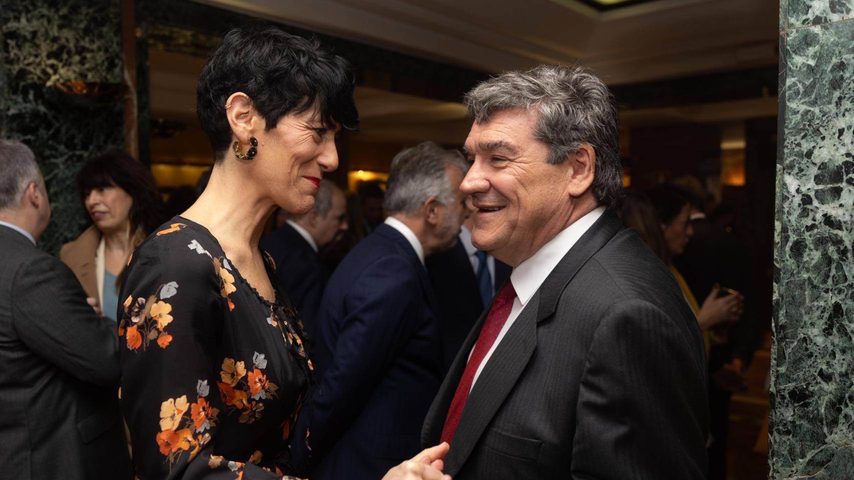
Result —
<instances>
[{"instance_id":1,"label":"white dress shirt worn with the dark red tie","mask_svg":"<svg viewBox=\"0 0 854 480\"><path fill-rule=\"evenodd\" d=\"M588 231L604 212L605 207L600 206L584 217L579 218L575 223L564 228L552 240L548 240L546 245L541 246L540 250L534 255L531 255L527 260L519 263L518 267L513 269L513 273L510 274L510 281L513 284L513 289L516 291L516 298L513 299L513 308L510 310L510 315L507 316L504 327L501 327L498 338L495 338L495 343L492 344L486 356L483 357L480 366L477 367L477 372L475 372L475 378L472 380L471 386L475 385L477 377L483 372L483 367L486 366L489 357L492 356L492 352L501 343L501 339L504 338L507 330L510 330L510 327L512 327L513 321L516 321L519 314L522 313L525 305L528 304L531 297L540 288L542 282L546 281L548 275L558 266L558 263L570 251L570 248L576 245L576 241ZM474 347L471 350L474 351ZM469 357L471 358L471 352L469 353Z\"/></svg>"}]
</instances>

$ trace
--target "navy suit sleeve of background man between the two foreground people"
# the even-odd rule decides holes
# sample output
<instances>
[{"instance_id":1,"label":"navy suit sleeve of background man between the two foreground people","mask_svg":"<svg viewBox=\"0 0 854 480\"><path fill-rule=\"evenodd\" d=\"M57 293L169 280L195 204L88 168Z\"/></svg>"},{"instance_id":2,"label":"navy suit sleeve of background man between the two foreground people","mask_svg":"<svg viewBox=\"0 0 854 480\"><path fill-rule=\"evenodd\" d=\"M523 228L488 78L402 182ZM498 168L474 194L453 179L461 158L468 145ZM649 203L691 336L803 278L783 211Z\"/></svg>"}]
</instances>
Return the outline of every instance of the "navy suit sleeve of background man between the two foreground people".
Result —
<instances>
[{"instance_id":1,"label":"navy suit sleeve of background man between the two foreground people","mask_svg":"<svg viewBox=\"0 0 854 480\"><path fill-rule=\"evenodd\" d=\"M420 292L407 260L385 257L366 269L344 298L347 314L337 332L335 356L323 368L312 398L312 459L322 458L365 408L371 390L418 327Z\"/></svg>"}]
</instances>

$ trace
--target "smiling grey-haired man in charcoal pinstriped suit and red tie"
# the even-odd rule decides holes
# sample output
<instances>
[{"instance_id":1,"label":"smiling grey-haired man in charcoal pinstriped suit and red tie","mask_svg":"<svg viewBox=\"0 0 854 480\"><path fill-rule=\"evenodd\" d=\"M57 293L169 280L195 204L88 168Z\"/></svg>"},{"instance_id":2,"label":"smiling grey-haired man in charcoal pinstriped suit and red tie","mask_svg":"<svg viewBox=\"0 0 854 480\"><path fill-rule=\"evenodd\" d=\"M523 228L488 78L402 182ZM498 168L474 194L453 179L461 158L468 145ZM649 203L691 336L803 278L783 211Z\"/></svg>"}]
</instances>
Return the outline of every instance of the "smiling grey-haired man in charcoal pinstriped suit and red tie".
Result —
<instances>
[{"instance_id":1,"label":"smiling grey-haired man in charcoal pinstriped suit and red tie","mask_svg":"<svg viewBox=\"0 0 854 480\"><path fill-rule=\"evenodd\" d=\"M570 67L466 95L471 240L513 267L424 421L471 478L705 477L705 357L670 275L613 213L617 108Z\"/></svg>"}]
</instances>

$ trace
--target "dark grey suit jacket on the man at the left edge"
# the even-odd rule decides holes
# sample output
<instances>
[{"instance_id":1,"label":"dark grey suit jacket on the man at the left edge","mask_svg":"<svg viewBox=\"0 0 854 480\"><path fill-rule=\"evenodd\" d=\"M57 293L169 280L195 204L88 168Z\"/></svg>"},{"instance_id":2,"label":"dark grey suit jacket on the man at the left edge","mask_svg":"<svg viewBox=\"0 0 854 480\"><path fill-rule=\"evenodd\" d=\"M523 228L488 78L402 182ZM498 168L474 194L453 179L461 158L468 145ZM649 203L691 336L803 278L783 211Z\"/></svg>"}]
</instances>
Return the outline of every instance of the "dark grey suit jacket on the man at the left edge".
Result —
<instances>
[{"instance_id":1,"label":"dark grey suit jacket on the man at the left edge","mask_svg":"<svg viewBox=\"0 0 854 480\"><path fill-rule=\"evenodd\" d=\"M132 478L115 322L24 235L0 226L0 252L0 478Z\"/></svg>"}]
</instances>

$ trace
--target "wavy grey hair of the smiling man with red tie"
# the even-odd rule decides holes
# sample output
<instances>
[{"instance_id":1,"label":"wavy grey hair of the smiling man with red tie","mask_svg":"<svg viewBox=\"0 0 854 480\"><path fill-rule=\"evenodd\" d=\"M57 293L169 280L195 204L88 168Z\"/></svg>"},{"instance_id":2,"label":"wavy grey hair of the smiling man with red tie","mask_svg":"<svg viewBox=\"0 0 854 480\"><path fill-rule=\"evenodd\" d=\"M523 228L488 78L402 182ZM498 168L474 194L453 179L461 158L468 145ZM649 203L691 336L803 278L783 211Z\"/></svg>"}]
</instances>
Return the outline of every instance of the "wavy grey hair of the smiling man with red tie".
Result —
<instances>
[{"instance_id":1,"label":"wavy grey hair of the smiling man with red tie","mask_svg":"<svg viewBox=\"0 0 854 480\"><path fill-rule=\"evenodd\" d=\"M478 124L501 110L540 113L536 140L548 146L548 163L560 164L588 143L596 152L593 193L600 205L616 207L623 194L623 164L617 130L617 105L608 87L584 68L541 65L504 72L465 95Z\"/></svg>"}]
</instances>

